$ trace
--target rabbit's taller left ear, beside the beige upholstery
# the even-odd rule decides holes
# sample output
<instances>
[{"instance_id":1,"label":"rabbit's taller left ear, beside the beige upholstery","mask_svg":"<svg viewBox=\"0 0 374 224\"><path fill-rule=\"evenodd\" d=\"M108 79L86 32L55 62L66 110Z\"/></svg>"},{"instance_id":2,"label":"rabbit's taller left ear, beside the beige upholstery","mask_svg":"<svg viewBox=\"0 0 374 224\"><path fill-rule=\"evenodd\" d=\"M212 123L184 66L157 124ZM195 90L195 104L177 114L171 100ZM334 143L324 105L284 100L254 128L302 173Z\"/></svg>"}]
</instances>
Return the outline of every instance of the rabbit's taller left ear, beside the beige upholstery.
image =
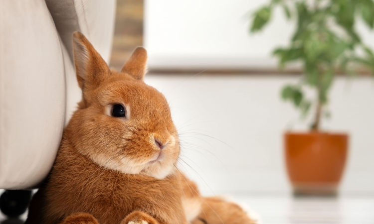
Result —
<instances>
[{"instance_id":1,"label":"rabbit's taller left ear, beside the beige upholstery","mask_svg":"<svg viewBox=\"0 0 374 224\"><path fill-rule=\"evenodd\" d=\"M78 84L82 90L96 88L109 76L107 63L80 32L73 33L73 53Z\"/></svg>"}]
</instances>

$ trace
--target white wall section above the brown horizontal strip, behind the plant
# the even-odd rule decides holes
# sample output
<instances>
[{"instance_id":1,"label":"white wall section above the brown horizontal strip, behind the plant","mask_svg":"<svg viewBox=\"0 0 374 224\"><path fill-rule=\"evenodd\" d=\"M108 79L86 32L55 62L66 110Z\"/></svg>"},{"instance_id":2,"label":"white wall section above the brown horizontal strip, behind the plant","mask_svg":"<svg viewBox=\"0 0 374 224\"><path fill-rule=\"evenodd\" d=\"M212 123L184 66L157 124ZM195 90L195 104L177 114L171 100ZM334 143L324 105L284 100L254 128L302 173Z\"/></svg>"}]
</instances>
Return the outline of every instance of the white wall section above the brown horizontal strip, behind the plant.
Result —
<instances>
[{"instance_id":1,"label":"white wall section above the brown horizontal strip, behind the plant","mask_svg":"<svg viewBox=\"0 0 374 224\"><path fill-rule=\"evenodd\" d=\"M274 69L271 52L293 32L282 9L249 34L251 12L269 0L145 0L144 44L151 69ZM248 13L249 12L249 13ZM374 33L358 24L374 47Z\"/></svg>"}]
</instances>

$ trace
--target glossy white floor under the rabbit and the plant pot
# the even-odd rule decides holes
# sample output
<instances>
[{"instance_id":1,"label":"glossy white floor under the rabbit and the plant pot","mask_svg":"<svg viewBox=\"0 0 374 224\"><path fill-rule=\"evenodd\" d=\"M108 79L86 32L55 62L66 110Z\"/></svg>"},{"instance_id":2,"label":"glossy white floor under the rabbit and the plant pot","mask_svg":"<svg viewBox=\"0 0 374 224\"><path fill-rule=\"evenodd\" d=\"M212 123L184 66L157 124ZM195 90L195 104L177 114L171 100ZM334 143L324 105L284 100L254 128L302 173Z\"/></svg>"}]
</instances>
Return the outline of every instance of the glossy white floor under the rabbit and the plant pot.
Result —
<instances>
[{"instance_id":1,"label":"glossy white floor under the rabbit and the plant pot","mask_svg":"<svg viewBox=\"0 0 374 224\"><path fill-rule=\"evenodd\" d=\"M282 195L236 196L257 212L262 224L374 224L374 197L293 198ZM22 217L23 220L25 216ZM0 224L18 224L5 220Z\"/></svg>"}]
</instances>

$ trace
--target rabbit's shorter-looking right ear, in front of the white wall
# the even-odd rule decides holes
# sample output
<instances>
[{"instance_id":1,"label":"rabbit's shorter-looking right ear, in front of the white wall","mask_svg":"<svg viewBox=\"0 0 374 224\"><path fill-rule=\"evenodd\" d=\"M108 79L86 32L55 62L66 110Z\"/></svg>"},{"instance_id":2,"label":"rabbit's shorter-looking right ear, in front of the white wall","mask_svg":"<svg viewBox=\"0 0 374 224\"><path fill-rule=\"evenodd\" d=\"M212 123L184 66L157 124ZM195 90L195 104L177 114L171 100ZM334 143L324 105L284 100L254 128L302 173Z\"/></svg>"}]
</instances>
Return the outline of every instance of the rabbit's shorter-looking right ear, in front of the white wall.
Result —
<instances>
[{"instance_id":1,"label":"rabbit's shorter-looking right ear, in front of the white wall","mask_svg":"<svg viewBox=\"0 0 374 224\"><path fill-rule=\"evenodd\" d=\"M123 65L121 72L129 74L134 79L143 80L147 72L147 50L144 47L137 47Z\"/></svg>"}]
</instances>

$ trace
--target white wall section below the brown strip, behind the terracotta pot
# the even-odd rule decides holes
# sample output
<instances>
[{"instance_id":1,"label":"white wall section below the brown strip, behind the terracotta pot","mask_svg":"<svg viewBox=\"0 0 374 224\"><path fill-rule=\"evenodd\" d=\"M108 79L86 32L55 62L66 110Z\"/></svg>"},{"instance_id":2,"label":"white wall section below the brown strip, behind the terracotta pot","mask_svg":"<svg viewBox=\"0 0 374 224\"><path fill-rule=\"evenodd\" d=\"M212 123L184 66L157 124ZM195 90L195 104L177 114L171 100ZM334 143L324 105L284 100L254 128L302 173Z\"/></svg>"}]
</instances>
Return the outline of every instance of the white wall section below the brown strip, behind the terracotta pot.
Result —
<instances>
[{"instance_id":1,"label":"white wall section below the brown strip, behind the terracotta pot","mask_svg":"<svg viewBox=\"0 0 374 224\"><path fill-rule=\"evenodd\" d=\"M148 75L146 83L166 95L181 134L181 158L191 167L180 165L203 192L289 192L282 135L298 113L279 99L279 91L298 79ZM374 193L374 80L338 78L330 109L324 128L351 135L342 191Z\"/></svg>"}]
</instances>

